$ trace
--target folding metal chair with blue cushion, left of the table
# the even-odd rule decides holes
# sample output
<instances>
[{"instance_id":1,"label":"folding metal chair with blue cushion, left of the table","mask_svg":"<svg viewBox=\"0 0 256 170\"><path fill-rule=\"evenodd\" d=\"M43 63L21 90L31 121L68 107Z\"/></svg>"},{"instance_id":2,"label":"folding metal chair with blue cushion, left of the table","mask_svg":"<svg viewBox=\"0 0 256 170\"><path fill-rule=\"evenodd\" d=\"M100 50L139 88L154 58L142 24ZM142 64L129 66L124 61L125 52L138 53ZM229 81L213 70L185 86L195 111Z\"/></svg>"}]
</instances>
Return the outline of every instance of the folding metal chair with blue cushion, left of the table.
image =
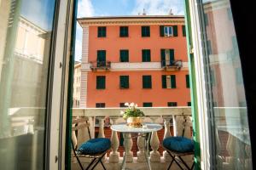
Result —
<instances>
[{"instance_id":1,"label":"folding metal chair with blue cushion, left of the table","mask_svg":"<svg viewBox=\"0 0 256 170\"><path fill-rule=\"evenodd\" d=\"M106 170L106 167L102 163L102 158L106 155L106 153L111 147L110 139L107 139L107 138L91 139L90 123L86 118L73 119L72 124L73 124L73 127L72 127L71 141L72 141L73 153L79 162L79 167L81 167L81 169L84 170L84 167L81 161L79 160L79 157L87 157L87 158L92 158L92 160L90 161L88 167L85 168L86 170L90 169L90 167L91 169L94 169L98 163L101 163L103 169ZM78 148L76 132L79 129L82 129L85 127L87 127L90 139L84 142L83 144L81 144Z\"/></svg>"}]
</instances>

